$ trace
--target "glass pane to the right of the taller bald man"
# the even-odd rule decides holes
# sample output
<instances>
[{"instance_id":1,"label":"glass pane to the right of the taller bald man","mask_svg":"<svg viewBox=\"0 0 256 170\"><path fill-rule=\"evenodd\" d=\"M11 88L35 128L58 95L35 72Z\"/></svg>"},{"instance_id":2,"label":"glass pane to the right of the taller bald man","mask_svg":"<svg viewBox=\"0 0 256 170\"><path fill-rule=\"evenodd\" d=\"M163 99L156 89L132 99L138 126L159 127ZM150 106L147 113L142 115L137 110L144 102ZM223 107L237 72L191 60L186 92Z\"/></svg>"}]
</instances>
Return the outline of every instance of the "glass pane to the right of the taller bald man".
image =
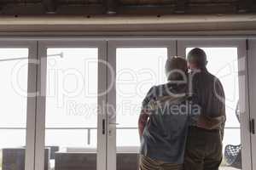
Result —
<instances>
[{"instance_id":1,"label":"glass pane to the right of the taller bald man","mask_svg":"<svg viewBox=\"0 0 256 170\"><path fill-rule=\"evenodd\" d=\"M186 48L187 54L192 48ZM225 93L227 121L224 129L224 150L228 152L231 148L241 144L240 122L236 116L239 100L238 88L238 60L237 48L201 48L207 53L207 69L222 82ZM225 147L227 149L225 150ZM238 146L238 148L240 148ZM232 169L236 163L241 166L241 150L237 150L238 156L224 156L221 169ZM239 155L240 154L240 155ZM228 159L229 158L229 159ZM231 162L230 159L236 160Z\"/></svg>"}]
</instances>

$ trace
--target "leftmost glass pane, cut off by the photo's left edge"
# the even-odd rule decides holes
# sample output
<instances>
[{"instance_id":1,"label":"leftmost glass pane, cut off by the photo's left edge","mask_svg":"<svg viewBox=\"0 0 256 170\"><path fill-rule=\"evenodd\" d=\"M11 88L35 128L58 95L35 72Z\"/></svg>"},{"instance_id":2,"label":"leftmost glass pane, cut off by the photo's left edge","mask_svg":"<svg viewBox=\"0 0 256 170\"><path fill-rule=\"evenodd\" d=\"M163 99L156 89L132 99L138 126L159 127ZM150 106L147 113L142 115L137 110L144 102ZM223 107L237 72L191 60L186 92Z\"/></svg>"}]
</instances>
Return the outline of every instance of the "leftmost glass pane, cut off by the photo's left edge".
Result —
<instances>
[{"instance_id":1,"label":"leftmost glass pane, cut off by the photo's left edge","mask_svg":"<svg viewBox=\"0 0 256 170\"><path fill-rule=\"evenodd\" d=\"M0 169L25 167L28 48L0 48Z\"/></svg>"}]
</instances>

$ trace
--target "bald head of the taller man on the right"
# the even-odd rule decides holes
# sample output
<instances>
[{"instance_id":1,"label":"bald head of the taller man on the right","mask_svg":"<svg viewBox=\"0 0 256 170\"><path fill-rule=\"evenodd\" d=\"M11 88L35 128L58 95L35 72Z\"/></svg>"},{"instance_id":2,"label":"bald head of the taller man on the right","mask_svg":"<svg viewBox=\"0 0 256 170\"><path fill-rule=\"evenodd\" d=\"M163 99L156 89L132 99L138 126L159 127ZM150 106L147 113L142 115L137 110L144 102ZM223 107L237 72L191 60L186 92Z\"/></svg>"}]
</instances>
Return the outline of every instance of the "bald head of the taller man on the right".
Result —
<instances>
[{"instance_id":1,"label":"bald head of the taller man on the right","mask_svg":"<svg viewBox=\"0 0 256 170\"><path fill-rule=\"evenodd\" d=\"M194 48L187 56L189 69L205 69L207 66L207 54L201 48Z\"/></svg>"}]
</instances>

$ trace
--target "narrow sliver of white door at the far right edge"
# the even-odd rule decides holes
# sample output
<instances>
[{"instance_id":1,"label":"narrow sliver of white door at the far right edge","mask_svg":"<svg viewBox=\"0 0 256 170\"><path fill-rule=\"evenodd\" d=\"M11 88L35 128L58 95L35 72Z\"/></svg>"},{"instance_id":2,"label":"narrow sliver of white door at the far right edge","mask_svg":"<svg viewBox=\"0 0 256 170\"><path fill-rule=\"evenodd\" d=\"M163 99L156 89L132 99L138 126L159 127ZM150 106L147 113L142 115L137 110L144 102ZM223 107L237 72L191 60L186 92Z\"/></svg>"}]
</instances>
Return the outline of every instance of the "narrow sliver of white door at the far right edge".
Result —
<instances>
[{"instance_id":1,"label":"narrow sliver of white door at the far right edge","mask_svg":"<svg viewBox=\"0 0 256 170\"><path fill-rule=\"evenodd\" d=\"M255 134L255 121L256 121L256 78L255 78L255 65L256 65L256 40L248 40L248 75L249 75L249 103L250 103L250 131L252 139L252 160L253 160L253 169L256 168L256 134Z\"/></svg>"}]
</instances>

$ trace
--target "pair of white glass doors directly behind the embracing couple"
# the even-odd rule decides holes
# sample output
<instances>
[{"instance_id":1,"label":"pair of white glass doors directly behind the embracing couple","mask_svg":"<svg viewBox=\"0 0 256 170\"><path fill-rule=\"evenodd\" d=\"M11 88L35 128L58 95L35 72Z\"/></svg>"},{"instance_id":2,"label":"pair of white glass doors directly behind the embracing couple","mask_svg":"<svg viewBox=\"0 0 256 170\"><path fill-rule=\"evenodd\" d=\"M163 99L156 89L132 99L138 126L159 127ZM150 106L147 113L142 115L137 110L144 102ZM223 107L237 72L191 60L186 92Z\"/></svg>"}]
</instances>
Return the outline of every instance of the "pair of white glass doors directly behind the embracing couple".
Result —
<instances>
[{"instance_id":1,"label":"pair of white glass doors directly behind the embracing couple","mask_svg":"<svg viewBox=\"0 0 256 170\"><path fill-rule=\"evenodd\" d=\"M166 82L167 57L185 57L192 48L206 51L208 71L224 86L227 122L220 169L234 167L235 163L237 168L252 169L246 44L240 39L109 41L108 63L114 76L108 75L113 77L108 86L114 84L108 93L108 105L113 108L108 111L108 169L137 169L137 121L142 100L149 88Z\"/></svg>"}]
</instances>

